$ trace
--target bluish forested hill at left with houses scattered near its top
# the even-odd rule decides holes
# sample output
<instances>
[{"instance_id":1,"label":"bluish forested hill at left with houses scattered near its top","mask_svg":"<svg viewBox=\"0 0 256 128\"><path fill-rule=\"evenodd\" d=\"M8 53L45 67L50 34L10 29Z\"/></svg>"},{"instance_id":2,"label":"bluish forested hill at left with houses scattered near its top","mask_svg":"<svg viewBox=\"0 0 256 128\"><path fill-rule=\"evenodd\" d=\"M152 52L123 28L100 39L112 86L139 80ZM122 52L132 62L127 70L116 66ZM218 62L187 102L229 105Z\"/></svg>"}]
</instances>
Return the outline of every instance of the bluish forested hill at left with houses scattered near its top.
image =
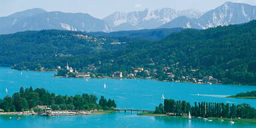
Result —
<instances>
[{"instance_id":1,"label":"bluish forested hill at left with houses scattered near its top","mask_svg":"<svg viewBox=\"0 0 256 128\"><path fill-rule=\"evenodd\" d=\"M0 35L0 66L122 49L131 39L95 37L82 32L43 30Z\"/></svg>"}]
</instances>

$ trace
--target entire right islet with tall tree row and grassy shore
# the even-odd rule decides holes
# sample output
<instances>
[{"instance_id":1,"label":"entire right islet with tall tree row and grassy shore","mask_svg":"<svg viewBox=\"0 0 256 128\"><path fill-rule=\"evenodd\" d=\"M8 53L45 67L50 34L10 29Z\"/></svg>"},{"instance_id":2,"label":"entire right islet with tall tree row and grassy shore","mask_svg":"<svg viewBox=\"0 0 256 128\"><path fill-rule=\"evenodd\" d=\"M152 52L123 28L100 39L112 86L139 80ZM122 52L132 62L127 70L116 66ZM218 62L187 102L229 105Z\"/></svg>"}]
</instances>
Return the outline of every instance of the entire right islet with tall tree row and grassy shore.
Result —
<instances>
[{"instance_id":1,"label":"entire right islet with tall tree row and grassy shore","mask_svg":"<svg viewBox=\"0 0 256 128\"><path fill-rule=\"evenodd\" d=\"M139 113L137 115L167 117L197 117L207 121L220 120L231 122L256 123L256 109L248 104L234 105L225 103L195 102L194 105L186 101L165 99L164 105L155 107L155 112ZM190 116L189 116L190 115Z\"/></svg>"}]
</instances>

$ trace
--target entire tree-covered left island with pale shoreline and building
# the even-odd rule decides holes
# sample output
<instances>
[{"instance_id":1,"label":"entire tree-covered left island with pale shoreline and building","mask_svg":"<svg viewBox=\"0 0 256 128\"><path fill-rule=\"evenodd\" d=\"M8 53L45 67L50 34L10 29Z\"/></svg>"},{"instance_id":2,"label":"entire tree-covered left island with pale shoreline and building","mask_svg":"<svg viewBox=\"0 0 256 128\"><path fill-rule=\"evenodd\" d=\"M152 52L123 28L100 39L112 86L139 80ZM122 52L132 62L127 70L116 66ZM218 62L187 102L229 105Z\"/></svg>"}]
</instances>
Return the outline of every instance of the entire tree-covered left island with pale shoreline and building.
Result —
<instances>
[{"instance_id":1,"label":"entire tree-covered left island with pale shoreline and building","mask_svg":"<svg viewBox=\"0 0 256 128\"><path fill-rule=\"evenodd\" d=\"M90 115L111 113L117 105L112 99L101 96L97 103L95 95L63 96L49 93L45 89L32 87L19 90L12 97L0 99L0 115Z\"/></svg>"}]
</instances>

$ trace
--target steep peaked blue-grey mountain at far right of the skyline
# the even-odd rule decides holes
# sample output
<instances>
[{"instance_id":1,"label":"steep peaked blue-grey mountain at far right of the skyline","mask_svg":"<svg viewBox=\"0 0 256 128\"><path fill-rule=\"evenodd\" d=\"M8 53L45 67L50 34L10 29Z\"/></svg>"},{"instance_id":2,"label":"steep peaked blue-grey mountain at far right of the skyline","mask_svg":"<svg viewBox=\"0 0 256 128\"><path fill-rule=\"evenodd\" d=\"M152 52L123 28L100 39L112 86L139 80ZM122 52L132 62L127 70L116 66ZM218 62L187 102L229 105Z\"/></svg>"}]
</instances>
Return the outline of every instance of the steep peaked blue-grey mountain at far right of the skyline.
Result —
<instances>
[{"instance_id":1,"label":"steep peaked blue-grey mountain at far right of the skyline","mask_svg":"<svg viewBox=\"0 0 256 128\"><path fill-rule=\"evenodd\" d=\"M246 23L253 19L256 19L256 6L226 2L224 5L208 11L199 18L178 17L159 28L207 29L209 27Z\"/></svg>"}]
</instances>

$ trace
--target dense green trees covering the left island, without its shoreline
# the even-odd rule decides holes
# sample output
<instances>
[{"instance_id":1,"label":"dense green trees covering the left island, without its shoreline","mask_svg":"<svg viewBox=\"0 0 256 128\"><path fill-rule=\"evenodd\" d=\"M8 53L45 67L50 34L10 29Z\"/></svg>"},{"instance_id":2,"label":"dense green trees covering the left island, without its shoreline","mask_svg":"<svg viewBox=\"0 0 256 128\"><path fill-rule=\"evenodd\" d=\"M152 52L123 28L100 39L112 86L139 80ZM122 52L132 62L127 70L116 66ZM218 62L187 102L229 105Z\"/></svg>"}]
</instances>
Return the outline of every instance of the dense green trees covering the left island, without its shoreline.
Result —
<instances>
[{"instance_id":1,"label":"dense green trees covering the left island, without its shoreline","mask_svg":"<svg viewBox=\"0 0 256 128\"><path fill-rule=\"evenodd\" d=\"M12 97L6 95L3 99L0 99L0 109L5 112L10 111L29 111L37 105L47 105L53 110L93 110L103 109L109 110L117 107L114 100L105 99L101 96L99 103L97 103L97 97L95 95L83 95L75 96L63 96L56 95L55 93L49 93L45 89L35 89L32 87L19 90L18 93L14 93Z\"/></svg>"}]
</instances>

